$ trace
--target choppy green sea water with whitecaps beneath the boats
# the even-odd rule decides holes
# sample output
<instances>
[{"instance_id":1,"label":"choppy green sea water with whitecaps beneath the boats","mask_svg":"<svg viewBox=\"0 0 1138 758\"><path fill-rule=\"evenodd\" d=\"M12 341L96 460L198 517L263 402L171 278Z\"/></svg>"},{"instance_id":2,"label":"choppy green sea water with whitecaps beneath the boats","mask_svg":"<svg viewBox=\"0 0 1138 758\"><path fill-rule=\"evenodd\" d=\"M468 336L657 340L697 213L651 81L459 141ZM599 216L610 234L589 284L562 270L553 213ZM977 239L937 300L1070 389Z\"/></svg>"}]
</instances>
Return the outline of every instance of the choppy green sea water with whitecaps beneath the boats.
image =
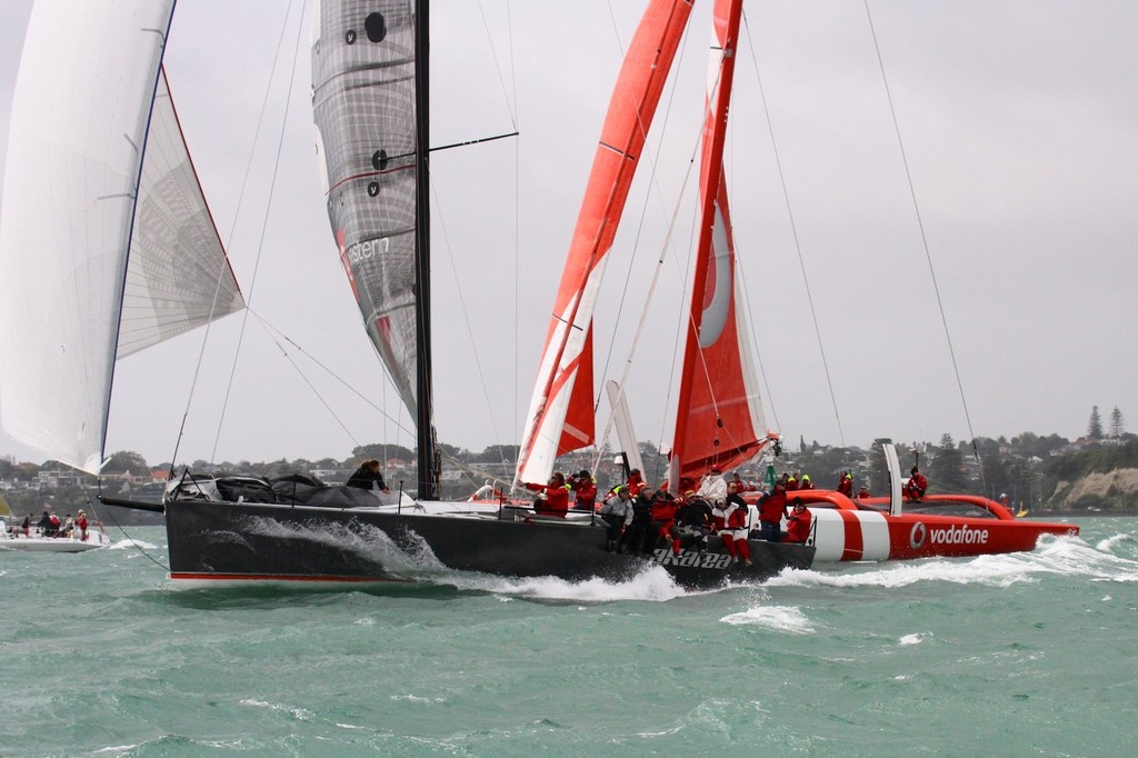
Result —
<instances>
[{"instance_id":1,"label":"choppy green sea water with whitecaps beneath the boats","mask_svg":"<svg viewBox=\"0 0 1138 758\"><path fill-rule=\"evenodd\" d=\"M165 533L0 551L2 756L1132 756L1138 519L686 593L174 590Z\"/></svg>"}]
</instances>

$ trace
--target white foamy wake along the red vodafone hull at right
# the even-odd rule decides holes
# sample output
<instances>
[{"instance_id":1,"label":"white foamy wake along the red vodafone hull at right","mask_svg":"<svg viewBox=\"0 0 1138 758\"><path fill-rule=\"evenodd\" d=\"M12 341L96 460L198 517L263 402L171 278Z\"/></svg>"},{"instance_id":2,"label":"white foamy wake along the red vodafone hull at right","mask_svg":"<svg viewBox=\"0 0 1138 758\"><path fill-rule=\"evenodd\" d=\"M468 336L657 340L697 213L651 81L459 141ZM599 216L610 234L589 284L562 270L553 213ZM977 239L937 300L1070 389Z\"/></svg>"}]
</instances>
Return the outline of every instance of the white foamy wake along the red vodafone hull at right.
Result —
<instances>
[{"instance_id":1,"label":"white foamy wake along the red vodafone hull at right","mask_svg":"<svg viewBox=\"0 0 1138 758\"><path fill-rule=\"evenodd\" d=\"M1114 539L1114 538L1112 538ZM1110 542L1110 541L1104 541ZM1107 545L1115 547L1118 541ZM1006 587L1045 575L1082 576L1102 582L1138 582L1138 561L1088 545L1079 537L1045 536L1030 553L934 558L890 563L852 563L832 570L786 570L768 587L905 587L922 582Z\"/></svg>"}]
</instances>

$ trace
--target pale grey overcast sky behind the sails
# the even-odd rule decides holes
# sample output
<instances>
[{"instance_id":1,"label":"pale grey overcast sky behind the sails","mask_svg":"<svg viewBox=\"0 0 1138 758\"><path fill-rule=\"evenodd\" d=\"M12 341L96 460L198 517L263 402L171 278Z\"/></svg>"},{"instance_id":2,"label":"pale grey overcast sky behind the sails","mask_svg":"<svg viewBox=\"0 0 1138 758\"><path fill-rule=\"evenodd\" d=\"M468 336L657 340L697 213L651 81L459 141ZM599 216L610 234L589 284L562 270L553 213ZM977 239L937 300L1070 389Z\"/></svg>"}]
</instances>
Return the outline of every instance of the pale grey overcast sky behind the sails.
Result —
<instances>
[{"instance_id":1,"label":"pale grey overcast sky behind the sails","mask_svg":"<svg viewBox=\"0 0 1138 758\"><path fill-rule=\"evenodd\" d=\"M659 256L681 192L711 5L696 3L683 71L661 102L651 160L613 248L597 315L599 376L621 370L651 277L644 264ZM642 6L431 3L432 143L520 132L432 156L443 442L481 450L520 438L601 120ZM270 83L270 66L281 28L297 34L286 7L181 0L166 67L253 310L336 379L291 346L274 346L250 319L223 412L242 331L242 318L231 316L206 349L179 461L343 459L357 444L414 444L397 426L411 428L385 387L331 240L313 153L307 28L269 204L288 76L286 65ZM0 146L30 8L0 6ZM861 0L751 2L744 11L726 170L768 426L795 445L800 436L859 446L946 432L1074 438L1098 405L1104 420L1118 406L1135 430L1138 3L871 0L869 10L881 65ZM266 90L273 125L254 150ZM628 389L641 438L670 436L691 214L685 204L677 215ZM189 335L121 364L108 453L172 458L200 344L200 332ZM44 458L2 432L0 454Z\"/></svg>"}]
</instances>

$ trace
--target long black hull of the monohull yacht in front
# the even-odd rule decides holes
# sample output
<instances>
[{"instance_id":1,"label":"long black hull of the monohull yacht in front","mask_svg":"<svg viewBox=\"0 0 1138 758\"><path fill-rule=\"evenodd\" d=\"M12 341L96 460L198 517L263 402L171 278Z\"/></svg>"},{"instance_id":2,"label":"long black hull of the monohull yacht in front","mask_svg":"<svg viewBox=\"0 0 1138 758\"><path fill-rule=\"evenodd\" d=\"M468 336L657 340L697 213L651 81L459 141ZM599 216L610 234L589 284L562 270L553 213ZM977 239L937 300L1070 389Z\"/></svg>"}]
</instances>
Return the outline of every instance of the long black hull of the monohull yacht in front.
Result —
<instances>
[{"instance_id":1,"label":"long black hull of the monohull yacht in front","mask_svg":"<svg viewBox=\"0 0 1138 758\"><path fill-rule=\"evenodd\" d=\"M715 587L809 568L814 547L750 541L753 566L731 566L718 538L706 553L673 558L610 553L604 529L564 521L488 516L428 516L264 503L173 501L166 504L171 578L213 582L430 580L430 554L445 568L508 577L628 579L649 562L677 584ZM435 570L438 570L438 566Z\"/></svg>"}]
</instances>

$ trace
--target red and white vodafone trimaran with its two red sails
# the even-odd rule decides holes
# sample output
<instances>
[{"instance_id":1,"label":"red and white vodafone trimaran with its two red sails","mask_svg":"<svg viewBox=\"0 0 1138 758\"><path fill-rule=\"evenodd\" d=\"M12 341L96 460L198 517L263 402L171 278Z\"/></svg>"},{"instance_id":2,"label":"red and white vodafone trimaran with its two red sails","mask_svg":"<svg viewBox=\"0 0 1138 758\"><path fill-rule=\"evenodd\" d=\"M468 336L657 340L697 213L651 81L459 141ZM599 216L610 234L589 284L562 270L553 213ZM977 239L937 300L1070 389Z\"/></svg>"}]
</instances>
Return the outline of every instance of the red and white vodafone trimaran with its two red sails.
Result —
<instances>
[{"instance_id":1,"label":"red and white vodafone trimaran with its two red sails","mask_svg":"<svg viewBox=\"0 0 1138 758\"><path fill-rule=\"evenodd\" d=\"M735 279L735 240L723 151L732 93L742 0L717 0L708 107L700 171L699 240L681 368L668 483L698 481L712 465L727 471L777 440L765 432L743 298ZM518 464L520 481L544 481L559 455L594 445L593 313L609 248L628 196L675 41L691 2L655 2L665 40L674 40L658 68L629 67L649 81L617 83L593 173L574 232L542 354ZM637 38L642 40L643 38ZM662 46L661 46L662 47ZM653 55L634 42L627 60ZM666 65L663 65L666 64ZM648 92L637 99L635 92ZM620 392L610 392L615 411ZM635 440L632 440L633 445ZM621 438L628 450L628 440ZM856 501L832 491L799 493L814 514L815 565L825 561L913 559L1029 551L1042 535L1075 535L1078 527L1017 520L998 503L967 495L930 496L918 512L901 509L900 473L891 461L892 496Z\"/></svg>"}]
</instances>

